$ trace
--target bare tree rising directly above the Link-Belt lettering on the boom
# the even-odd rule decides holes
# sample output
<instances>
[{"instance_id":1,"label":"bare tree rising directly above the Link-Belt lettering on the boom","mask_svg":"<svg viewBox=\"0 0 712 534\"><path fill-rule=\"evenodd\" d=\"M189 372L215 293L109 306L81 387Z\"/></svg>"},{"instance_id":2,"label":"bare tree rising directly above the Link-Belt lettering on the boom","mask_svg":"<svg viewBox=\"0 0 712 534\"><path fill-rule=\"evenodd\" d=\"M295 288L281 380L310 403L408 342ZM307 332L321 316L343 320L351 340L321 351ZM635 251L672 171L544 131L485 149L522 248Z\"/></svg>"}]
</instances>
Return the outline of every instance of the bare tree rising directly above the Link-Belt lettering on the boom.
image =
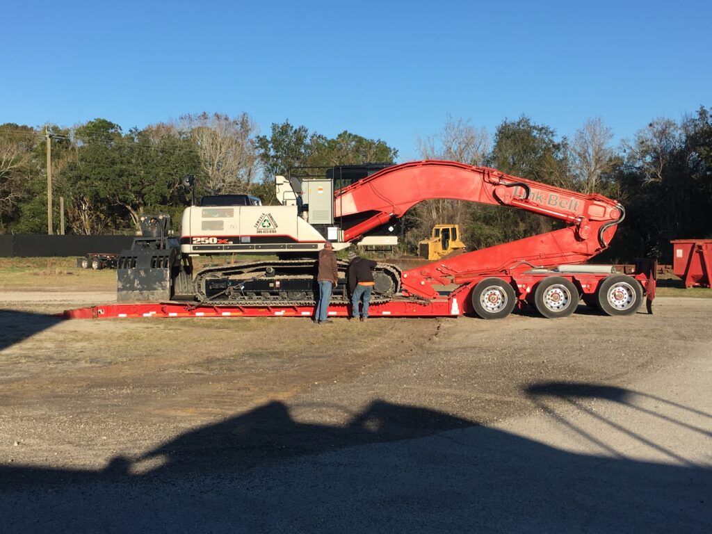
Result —
<instances>
[{"instance_id":1,"label":"bare tree rising directly above the Link-Belt lettering on the boom","mask_svg":"<svg viewBox=\"0 0 712 534\"><path fill-rule=\"evenodd\" d=\"M570 164L582 192L596 192L601 174L611 168L612 139L613 132L600 117L587 119L583 127L576 131L569 149Z\"/></svg>"}]
</instances>

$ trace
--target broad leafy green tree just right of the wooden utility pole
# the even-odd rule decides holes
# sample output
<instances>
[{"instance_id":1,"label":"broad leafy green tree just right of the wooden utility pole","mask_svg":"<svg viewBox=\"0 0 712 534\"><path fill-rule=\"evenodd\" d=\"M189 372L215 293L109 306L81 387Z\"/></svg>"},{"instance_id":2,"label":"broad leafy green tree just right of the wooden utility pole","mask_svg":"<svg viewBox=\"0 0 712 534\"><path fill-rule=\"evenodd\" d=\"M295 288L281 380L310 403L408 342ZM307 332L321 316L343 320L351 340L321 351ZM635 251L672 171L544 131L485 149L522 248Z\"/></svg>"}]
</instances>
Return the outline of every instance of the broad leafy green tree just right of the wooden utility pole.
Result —
<instances>
[{"instance_id":1,"label":"broad leafy green tree just right of the wooden utility pole","mask_svg":"<svg viewBox=\"0 0 712 534\"><path fill-rule=\"evenodd\" d=\"M97 119L75 130L78 157L63 172L71 199L70 226L78 234L138 227L145 211L177 216L186 204L185 174L199 174L200 161L187 135L174 127L134 128L126 135Z\"/></svg>"}]
</instances>

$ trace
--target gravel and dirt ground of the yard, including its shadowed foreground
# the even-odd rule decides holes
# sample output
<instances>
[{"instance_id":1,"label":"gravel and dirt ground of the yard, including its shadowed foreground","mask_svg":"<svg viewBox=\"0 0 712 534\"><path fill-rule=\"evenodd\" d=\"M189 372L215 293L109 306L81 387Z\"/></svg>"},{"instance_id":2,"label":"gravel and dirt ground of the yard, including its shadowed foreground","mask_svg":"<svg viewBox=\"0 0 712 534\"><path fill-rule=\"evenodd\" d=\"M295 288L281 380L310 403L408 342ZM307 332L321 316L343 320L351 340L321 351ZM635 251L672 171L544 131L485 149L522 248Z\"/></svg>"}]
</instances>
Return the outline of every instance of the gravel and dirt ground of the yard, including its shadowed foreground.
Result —
<instances>
[{"instance_id":1,"label":"gravel and dirt ground of the yard, including its shadowed foreground","mask_svg":"<svg viewBox=\"0 0 712 534\"><path fill-rule=\"evenodd\" d=\"M0 531L712 531L712 300L61 321L0 297Z\"/></svg>"}]
</instances>

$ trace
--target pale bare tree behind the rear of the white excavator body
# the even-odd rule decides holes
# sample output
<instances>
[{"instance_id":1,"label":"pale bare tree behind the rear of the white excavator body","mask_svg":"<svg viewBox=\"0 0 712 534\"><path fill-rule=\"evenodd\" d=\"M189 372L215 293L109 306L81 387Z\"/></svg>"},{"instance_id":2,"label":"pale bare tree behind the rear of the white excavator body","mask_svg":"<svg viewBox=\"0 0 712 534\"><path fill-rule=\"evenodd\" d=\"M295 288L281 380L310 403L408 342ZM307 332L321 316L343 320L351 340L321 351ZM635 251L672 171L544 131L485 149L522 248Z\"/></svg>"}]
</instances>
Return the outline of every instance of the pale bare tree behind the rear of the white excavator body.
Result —
<instances>
[{"instance_id":1,"label":"pale bare tree behind the rear of the white excavator body","mask_svg":"<svg viewBox=\"0 0 712 534\"><path fill-rule=\"evenodd\" d=\"M197 146L206 189L215 194L250 191L256 178L253 137L257 127L249 115L184 115L179 127L189 133Z\"/></svg>"}]
</instances>

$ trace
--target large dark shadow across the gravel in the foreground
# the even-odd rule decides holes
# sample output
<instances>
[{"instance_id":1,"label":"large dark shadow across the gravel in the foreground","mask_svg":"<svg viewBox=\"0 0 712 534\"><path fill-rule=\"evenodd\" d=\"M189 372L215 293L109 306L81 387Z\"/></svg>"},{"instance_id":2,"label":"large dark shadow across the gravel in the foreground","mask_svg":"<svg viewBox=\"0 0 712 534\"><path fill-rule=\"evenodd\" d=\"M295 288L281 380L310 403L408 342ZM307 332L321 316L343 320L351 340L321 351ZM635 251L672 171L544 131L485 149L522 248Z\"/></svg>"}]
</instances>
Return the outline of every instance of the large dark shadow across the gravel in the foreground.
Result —
<instances>
[{"instance_id":1,"label":"large dark shadow across the gravel in the foreground","mask_svg":"<svg viewBox=\"0 0 712 534\"><path fill-rule=\"evenodd\" d=\"M528 394L628 403L636 393ZM102 471L0 465L0 530L708 533L711 496L701 466L575 454L388 402L343 426L296 422L271 402Z\"/></svg>"}]
</instances>

